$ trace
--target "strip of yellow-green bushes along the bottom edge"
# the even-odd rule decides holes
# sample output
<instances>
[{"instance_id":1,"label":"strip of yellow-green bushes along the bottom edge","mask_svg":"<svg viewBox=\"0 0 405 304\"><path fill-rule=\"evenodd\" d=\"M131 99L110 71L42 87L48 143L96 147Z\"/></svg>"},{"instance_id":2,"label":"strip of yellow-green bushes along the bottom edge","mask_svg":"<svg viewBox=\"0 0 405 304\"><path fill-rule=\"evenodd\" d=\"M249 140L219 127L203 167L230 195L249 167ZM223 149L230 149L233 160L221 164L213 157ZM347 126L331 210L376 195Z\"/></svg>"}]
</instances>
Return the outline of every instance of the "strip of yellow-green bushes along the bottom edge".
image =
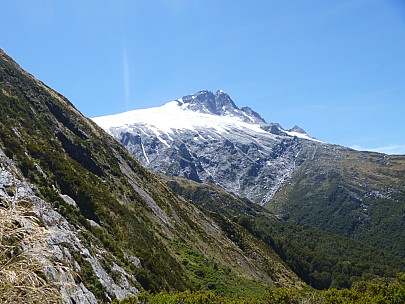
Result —
<instances>
[{"instance_id":1,"label":"strip of yellow-green bushes along the bottom edge","mask_svg":"<svg viewBox=\"0 0 405 304\"><path fill-rule=\"evenodd\" d=\"M405 303L405 274L395 279L374 279L356 282L350 289L331 288L322 291L298 291L287 288L268 289L257 297L221 295L212 291L184 291L175 294L143 292L114 304L403 304Z\"/></svg>"}]
</instances>

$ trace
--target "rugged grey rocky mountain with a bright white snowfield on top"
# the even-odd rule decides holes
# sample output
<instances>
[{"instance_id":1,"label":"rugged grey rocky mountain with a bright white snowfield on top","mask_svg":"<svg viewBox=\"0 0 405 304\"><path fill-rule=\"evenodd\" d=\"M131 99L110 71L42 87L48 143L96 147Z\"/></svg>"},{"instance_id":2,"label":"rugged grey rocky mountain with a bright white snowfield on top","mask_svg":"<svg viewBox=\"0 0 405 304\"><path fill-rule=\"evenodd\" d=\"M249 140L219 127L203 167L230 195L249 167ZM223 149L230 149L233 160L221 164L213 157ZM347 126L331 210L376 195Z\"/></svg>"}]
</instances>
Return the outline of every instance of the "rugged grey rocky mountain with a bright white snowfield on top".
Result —
<instances>
[{"instance_id":1,"label":"rugged grey rocky mountain with a bright white snowfield on top","mask_svg":"<svg viewBox=\"0 0 405 304\"><path fill-rule=\"evenodd\" d=\"M147 167L216 183L260 204L288 180L304 148L321 144L297 126L284 130L238 108L223 91L93 120Z\"/></svg>"}]
</instances>

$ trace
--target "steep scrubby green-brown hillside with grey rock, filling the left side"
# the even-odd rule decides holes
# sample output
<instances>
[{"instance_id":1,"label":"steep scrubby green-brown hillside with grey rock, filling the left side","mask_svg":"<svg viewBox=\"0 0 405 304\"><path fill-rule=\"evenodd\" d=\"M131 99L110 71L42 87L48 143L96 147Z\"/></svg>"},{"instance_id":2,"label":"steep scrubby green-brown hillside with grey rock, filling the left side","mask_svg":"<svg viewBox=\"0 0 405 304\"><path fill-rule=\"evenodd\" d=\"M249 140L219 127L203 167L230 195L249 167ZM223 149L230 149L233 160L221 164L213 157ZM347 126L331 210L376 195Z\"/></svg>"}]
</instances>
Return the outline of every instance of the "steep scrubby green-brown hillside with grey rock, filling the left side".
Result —
<instances>
[{"instance_id":1,"label":"steep scrubby green-brown hillside with grey rock, filling the left side","mask_svg":"<svg viewBox=\"0 0 405 304\"><path fill-rule=\"evenodd\" d=\"M0 164L1 204L25 201L52 232L50 259L69 275L46 274L65 302L110 301L140 290L249 293L302 284L274 251L255 255L262 250L257 240L248 237L249 252L238 247L211 217L3 51Z\"/></svg>"}]
</instances>

